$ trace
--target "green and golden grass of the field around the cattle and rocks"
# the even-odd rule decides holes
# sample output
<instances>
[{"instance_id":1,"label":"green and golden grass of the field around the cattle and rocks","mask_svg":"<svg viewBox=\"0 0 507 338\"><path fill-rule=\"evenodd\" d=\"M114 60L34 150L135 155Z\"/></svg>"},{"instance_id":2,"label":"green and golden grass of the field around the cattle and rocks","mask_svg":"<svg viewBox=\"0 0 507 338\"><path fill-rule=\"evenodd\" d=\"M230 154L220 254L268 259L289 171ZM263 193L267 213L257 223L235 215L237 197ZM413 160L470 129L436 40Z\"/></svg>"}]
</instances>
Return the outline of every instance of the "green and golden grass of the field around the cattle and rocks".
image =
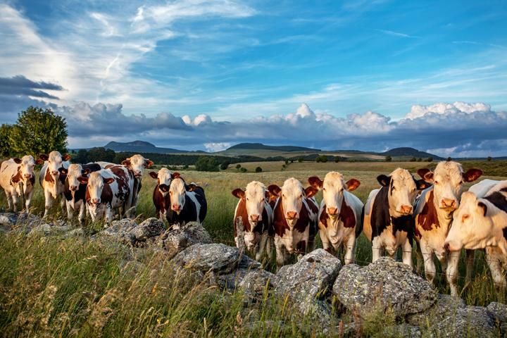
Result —
<instances>
[{"instance_id":1,"label":"green and golden grass of the field around the cattle and rocks","mask_svg":"<svg viewBox=\"0 0 507 338\"><path fill-rule=\"evenodd\" d=\"M415 171L436 163L292 163L282 169L280 163L244 163L247 173L230 168L220 173L181 171L187 182L205 187L208 215L204 226L215 242L234 245L232 218L237 199L232 189L245 187L251 180L266 185L296 177L307 185L311 175L321 178L330 171L342 172L346 179L361 181L354 193L365 201L371 189L378 187L375 177L402 167ZM505 179L505 161L463 163L482 168L482 178ZM263 173L252 173L261 165ZM156 180L146 172L138 204L139 219L153 217L151 201ZM318 201L321 194L317 195ZM42 214L44 199L39 184L36 186L32 206ZM0 197L0 210L6 207L4 194ZM63 218L55 207L54 217ZM89 232L96 228L89 226ZM128 255L138 255L144 265L125 263ZM414 255L415 256L415 255ZM474 279L462 296L470 305L486 306L490 301L503 301L503 295L494 291L484 254L475 255ZM415 259L415 258L414 258ZM371 244L362 235L358 240L357 263L371 261ZM274 270L273 262L264 262ZM458 278L464 284L463 258ZM0 336L77 336L97 335L125 337L182 337L182 336L299 336L295 324L287 325L294 311L289 303L266 294L261 303L245 313L242 299L235 294L190 282L176 273L159 254L132 253L121 246L111 246L84 238L47 241L26 238L15 234L0 235ZM449 293L441 275L437 275L439 292ZM392 320L381 316L382 323ZM378 318L376 319L379 320ZM286 321L285 325L280 325ZM247 323L258 323L252 327ZM369 327L376 327L370 325ZM311 326L311 325L310 325ZM368 325L365 325L368 327ZM378 334L373 328L371 335ZM368 332L362 332L368 334ZM306 334L311 334L306 332ZM337 336L339 334L336 334Z\"/></svg>"}]
</instances>

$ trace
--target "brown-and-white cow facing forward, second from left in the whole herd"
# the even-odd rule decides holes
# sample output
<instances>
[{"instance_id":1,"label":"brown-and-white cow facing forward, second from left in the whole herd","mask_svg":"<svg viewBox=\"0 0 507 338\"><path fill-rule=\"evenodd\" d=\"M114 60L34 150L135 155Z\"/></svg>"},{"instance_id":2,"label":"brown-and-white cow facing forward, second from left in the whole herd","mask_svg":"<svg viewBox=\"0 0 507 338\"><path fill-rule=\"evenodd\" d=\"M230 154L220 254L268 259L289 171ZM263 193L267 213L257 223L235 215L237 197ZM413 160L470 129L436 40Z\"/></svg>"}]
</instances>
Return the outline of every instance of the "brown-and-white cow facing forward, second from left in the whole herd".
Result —
<instances>
[{"instance_id":1,"label":"brown-and-white cow facing forward, second from left in the whole herd","mask_svg":"<svg viewBox=\"0 0 507 338\"><path fill-rule=\"evenodd\" d=\"M46 217L53 202L57 199L60 199L62 210L65 208L65 198L63 197L65 186L60 177L60 170L68 168L70 155L62 156L59 151L51 151L49 155L40 154L39 158L44 161L39 174L39 183L44 189L44 217Z\"/></svg>"}]
</instances>

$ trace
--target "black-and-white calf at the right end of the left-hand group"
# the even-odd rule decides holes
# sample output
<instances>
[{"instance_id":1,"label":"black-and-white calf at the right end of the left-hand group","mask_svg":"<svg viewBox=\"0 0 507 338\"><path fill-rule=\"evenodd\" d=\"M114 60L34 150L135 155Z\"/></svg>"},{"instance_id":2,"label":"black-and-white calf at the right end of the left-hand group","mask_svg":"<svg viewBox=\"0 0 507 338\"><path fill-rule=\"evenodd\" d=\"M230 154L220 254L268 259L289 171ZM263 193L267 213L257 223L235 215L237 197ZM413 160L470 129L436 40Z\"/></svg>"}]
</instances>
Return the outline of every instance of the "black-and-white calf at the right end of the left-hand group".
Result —
<instances>
[{"instance_id":1,"label":"black-and-white calf at the right end of the left-hand group","mask_svg":"<svg viewBox=\"0 0 507 338\"><path fill-rule=\"evenodd\" d=\"M173 173L169 186L170 210L167 212L169 225L182 227L189 222L202 223L208 211L204 189L195 184L185 184L180 174Z\"/></svg>"}]
</instances>

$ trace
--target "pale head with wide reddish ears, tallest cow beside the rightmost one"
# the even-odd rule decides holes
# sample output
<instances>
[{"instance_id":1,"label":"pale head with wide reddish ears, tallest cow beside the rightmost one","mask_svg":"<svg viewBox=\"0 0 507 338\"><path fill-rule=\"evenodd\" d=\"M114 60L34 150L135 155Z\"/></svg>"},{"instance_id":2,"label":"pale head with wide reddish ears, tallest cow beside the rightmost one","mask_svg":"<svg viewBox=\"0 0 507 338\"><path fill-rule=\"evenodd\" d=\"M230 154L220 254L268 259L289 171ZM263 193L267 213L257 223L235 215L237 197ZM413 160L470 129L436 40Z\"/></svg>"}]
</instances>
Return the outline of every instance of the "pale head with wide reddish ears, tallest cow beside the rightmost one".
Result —
<instances>
[{"instance_id":1,"label":"pale head with wide reddish ears, tallest cow beside the rightmost one","mask_svg":"<svg viewBox=\"0 0 507 338\"><path fill-rule=\"evenodd\" d=\"M477 180L482 175L482 170L470 169L463 173L460 163L442 161L434 171L420 169L418 174L433 184L435 207L451 213L459 207L463 183Z\"/></svg>"}]
</instances>

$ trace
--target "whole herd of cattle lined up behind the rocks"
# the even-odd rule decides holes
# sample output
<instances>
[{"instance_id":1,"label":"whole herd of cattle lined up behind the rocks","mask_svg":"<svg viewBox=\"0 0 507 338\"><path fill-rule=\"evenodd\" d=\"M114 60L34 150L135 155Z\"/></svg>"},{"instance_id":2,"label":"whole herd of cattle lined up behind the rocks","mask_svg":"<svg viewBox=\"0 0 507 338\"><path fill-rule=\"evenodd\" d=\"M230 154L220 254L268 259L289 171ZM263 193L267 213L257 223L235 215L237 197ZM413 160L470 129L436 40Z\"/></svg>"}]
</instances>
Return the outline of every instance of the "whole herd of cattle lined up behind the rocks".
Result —
<instances>
[{"instance_id":1,"label":"whole herd of cattle lined up behind the rocks","mask_svg":"<svg viewBox=\"0 0 507 338\"><path fill-rule=\"evenodd\" d=\"M86 211L93 221L111 223L115 214L135 215L142 175L153 162L141 155L126 158L121 164L97 162L70 164L70 156L58 151L11 158L0 164L0 185L7 196L8 207L16 211L18 199L30 208L35 186L34 167L43 164L39 182L44 189L45 212L60 199L68 218L79 211L84 221ZM337 254L345 251L345 263L353 263L356 239L363 232L372 243L373 261L382 253L394 256L402 251L403 263L412 265L412 248L417 245L418 263L424 263L425 275L432 281L436 273L436 256L446 272L451 294L457 295L458 261L461 249L467 254L467 281L470 281L473 251L485 249L494 282L507 283L502 265L507 263L507 181L482 180L463 192L465 182L477 180L482 171L466 173L459 163L438 163L434 171L418 170L416 180L405 169L379 175L379 189L370 192L365 204L353 190L361 182L345 181L337 172L324 180L308 178L308 187L294 177L282 187L268 187L253 181L246 189L234 189L239 201L234 211L234 240L244 242L256 259L276 251L277 265L286 264L292 254L301 257L313 250L319 234L324 249ZM161 168L152 171L157 180L153 193L156 214L170 225L190 221L202 223L207 204L204 189L187 184L179 173ZM314 199L323 192L320 206ZM238 225L242 223L242 231ZM238 235L242 234L243 239Z\"/></svg>"}]
</instances>

